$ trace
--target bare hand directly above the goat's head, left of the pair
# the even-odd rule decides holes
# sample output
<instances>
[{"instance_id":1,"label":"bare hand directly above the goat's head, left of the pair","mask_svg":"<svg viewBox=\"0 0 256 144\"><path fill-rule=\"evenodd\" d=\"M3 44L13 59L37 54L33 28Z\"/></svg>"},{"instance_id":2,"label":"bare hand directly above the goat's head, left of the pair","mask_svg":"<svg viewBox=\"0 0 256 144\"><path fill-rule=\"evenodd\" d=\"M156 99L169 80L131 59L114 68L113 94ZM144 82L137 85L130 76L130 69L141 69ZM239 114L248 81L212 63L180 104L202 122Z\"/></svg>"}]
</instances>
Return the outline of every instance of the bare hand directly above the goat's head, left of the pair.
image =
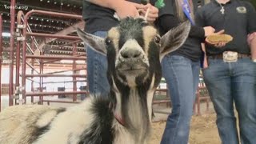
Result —
<instances>
[{"instance_id":1,"label":"bare hand directly above the goat's head, left of the pair","mask_svg":"<svg viewBox=\"0 0 256 144\"><path fill-rule=\"evenodd\" d=\"M134 2L120 1L114 7L118 18L134 17L138 18L138 9L142 9L143 6Z\"/></svg>"}]
</instances>

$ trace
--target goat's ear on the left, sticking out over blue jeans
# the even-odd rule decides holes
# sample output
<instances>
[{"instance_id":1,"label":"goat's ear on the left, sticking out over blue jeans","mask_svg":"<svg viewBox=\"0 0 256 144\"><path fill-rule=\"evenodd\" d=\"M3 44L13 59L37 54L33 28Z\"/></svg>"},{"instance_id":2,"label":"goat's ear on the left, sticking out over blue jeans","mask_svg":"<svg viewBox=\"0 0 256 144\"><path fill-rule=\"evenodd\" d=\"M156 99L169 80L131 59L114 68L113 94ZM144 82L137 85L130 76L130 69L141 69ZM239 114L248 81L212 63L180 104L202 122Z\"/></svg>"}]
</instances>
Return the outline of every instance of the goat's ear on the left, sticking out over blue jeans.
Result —
<instances>
[{"instance_id":1,"label":"goat's ear on the left, sticking out over blue jeans","mask_svg":"<svg viewBox=\"0 0 256 144\"><path fill-rule=\"evenodd\" d=\"M98 53L106 55L105 39L97 37L93 34L88 34L80 29L77 30L78 36L82 38L82 41L86 45L90 46L93 50Z\"/></svg>"}]
</instances>

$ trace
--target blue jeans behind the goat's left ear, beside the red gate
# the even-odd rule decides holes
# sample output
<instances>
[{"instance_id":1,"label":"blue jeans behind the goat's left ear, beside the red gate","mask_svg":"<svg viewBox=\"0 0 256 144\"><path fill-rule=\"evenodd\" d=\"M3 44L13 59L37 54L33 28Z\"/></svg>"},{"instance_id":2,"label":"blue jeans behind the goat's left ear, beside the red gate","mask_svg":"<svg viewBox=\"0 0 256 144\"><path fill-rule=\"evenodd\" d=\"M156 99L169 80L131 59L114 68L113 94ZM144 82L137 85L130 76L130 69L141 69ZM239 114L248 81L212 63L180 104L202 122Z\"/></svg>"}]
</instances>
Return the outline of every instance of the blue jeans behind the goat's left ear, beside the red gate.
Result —
<instances>
[{"instance_id":1,"label":"blue jeans behind the goat's left ear, beside the red gate","mask_svg":"<svg viewBox=\"0 0 256 144\"><path fill-rule=\"evenodd\" d=\"M106 31L97 31L94 35L105 38ZM106 95L110 91L110 85L107 81L106 70L107 61L106 56L99 54L87 46L87 82L90 94Z\"/></svg>"}]
</instances>

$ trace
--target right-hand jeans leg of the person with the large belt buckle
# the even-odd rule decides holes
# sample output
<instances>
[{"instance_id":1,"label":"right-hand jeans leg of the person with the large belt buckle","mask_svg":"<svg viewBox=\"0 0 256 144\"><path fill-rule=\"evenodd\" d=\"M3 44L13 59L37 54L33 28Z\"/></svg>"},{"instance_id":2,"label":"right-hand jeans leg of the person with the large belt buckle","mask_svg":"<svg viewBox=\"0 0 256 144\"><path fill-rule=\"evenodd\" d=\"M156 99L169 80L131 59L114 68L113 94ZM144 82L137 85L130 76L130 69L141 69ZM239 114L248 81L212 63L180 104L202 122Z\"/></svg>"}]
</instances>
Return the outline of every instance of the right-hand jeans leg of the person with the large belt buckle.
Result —
<instances>
[{"instance_id":1,"label":"right-hand jeans leg of the person with the large belt buckle","mask_svg":"<svg viewBox=\"0 0 256 144\"><path fill-rule=\"evenodd\" d=\"M243 58L232 66L232 94L242 144L256 143L256 63Z\"/></svg>"}]
</instances>

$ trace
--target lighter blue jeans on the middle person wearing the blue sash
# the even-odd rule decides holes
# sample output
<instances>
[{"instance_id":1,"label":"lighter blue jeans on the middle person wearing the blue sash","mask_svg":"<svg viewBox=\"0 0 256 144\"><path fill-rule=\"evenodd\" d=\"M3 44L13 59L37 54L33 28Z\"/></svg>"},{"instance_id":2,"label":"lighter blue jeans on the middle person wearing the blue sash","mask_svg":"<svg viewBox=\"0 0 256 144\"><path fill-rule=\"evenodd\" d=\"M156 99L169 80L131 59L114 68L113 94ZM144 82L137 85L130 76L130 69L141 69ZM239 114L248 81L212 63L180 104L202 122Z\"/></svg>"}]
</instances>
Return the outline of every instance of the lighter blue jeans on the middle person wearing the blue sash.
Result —
<instances>
[{"instance_id":1,"label":"lighter blue jeans on the middle person wearing the blue sash","mask_svg":"<svg viewBox=\"0 0 256 144\"><path fill-rule=\"evenodd\" d=\"M162 74L173 107L167 118L161 144L187 144L199 70L200 62L193 62L189 58L166 55L162 59Z\"/></svg>"}]
</instances>

